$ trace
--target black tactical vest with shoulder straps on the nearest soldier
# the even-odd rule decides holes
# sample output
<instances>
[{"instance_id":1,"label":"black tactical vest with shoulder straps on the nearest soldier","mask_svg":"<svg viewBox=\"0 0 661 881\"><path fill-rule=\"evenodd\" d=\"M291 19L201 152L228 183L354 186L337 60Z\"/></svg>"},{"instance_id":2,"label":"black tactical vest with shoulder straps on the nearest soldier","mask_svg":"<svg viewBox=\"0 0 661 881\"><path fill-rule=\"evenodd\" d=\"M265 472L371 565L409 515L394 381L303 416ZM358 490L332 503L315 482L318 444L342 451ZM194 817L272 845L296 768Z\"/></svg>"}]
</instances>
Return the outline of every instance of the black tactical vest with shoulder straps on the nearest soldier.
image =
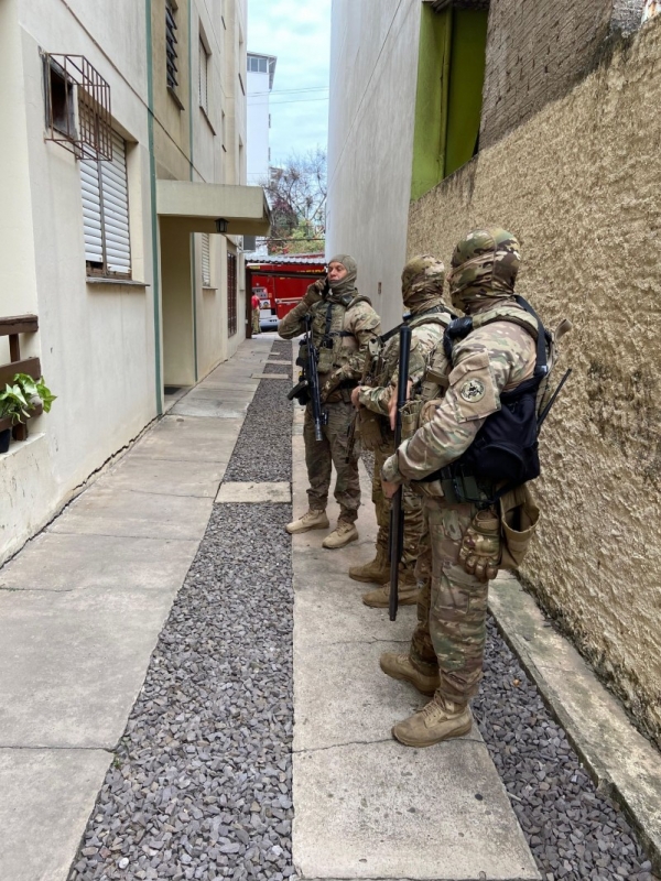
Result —
<instances>
[{"instance_id":1,"label":"black tactical vest with shoulder straps on the nearest soldier","mask_svg":"<svg viewBox=\"0 0 661 881\"><path fill-rule=\"evenodd\" d=\"M468 449L445 468L423 478L424 482L457 482L464 478L476 478L485 485L505 482L505 489L509 490L539 477L538 395L541 384L549 376L548 347L551 346L552 337L532 306L523 297L517 296L516 300L524 313L520 308L501 306L452 322L443 337L443 350L452 367L454 345L458 339L464 339L473 330L488 324L511 322L527 330L535 340L534 372L516 389L501 392L500 410L487 416ZM497 497L500 494L501 492ZM477 501L465 493L464 496L466 501Z\"/></svg>"}]
</instances>

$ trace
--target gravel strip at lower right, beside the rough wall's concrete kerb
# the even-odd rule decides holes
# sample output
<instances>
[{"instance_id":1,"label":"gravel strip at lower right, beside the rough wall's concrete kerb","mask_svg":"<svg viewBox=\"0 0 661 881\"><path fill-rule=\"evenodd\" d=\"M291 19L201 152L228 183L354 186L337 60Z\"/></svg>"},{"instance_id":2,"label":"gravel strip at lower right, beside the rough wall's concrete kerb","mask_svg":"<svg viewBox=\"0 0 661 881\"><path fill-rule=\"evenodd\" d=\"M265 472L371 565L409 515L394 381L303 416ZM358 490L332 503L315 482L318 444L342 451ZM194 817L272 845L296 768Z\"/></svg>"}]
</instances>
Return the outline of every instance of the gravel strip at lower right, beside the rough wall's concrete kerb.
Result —
<instances>
[{"instance_id":1,"label":"gravel strip at lower right, beside the rough wall's concrete kerb","mask_svg":"<svg viewBox=\"0 0 661 881\"><path fill-rule=\"evenodd\" d=\"M621 811L599 794L516 655L488 622L473 710L544 881L653 881Z\"/></svg>"}]
</instances>

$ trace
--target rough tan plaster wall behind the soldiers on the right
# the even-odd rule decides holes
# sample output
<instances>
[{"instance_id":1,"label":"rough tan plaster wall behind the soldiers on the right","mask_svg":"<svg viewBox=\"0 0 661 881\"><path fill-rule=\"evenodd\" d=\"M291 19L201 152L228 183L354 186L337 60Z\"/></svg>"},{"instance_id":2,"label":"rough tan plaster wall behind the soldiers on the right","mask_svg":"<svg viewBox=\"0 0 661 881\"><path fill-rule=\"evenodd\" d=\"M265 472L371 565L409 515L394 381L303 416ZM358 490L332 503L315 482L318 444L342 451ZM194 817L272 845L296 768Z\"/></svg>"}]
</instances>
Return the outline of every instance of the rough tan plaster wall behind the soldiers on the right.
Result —
<instances>
[{"instance_id":1,"label":"rough tan plaster wall behind the soldiers on the right","mask_svg":"<svg viewBox=\"0 0 661 881\"><path fill-rule=\"evenodd\" d=\"M408 250L447 260L469 228L501 224L522 240L519 292L574 322L522 574L661 743L660 63L655 20L412 205Z\"/></svg>"}]
</instances>

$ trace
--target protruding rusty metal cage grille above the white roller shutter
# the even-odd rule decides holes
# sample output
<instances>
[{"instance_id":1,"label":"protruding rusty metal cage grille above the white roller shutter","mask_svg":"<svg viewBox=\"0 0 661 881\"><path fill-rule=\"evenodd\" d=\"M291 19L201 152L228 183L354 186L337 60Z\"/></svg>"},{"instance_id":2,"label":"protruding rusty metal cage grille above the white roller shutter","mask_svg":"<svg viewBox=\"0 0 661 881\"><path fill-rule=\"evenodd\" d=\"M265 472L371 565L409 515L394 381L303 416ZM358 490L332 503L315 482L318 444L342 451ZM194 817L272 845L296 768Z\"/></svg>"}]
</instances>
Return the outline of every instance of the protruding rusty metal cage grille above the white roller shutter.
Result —
<instances>
[{"instance_id":1,"label":"protruding rusty metal cage grille above the white roller shutter","mask_svg":"<svg viewBox=\"0 0 661 881\"><path fill-rule=\"evenodd\" d=\"M46 141L77 159L112 161L110 86L84 55L45 52Z\"/></svg>"}]
</instances>

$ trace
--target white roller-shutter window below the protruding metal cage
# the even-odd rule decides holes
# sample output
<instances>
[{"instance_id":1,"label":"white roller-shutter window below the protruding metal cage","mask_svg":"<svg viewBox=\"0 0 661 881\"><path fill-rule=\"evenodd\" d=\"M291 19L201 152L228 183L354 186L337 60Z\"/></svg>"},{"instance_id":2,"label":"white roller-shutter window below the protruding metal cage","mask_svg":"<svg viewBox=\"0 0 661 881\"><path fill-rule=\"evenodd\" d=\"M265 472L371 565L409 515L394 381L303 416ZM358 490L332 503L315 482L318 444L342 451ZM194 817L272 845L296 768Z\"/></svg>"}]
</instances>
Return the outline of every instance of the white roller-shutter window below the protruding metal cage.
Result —
<instances>
[{"instance_id":1,"label":"white roller-shutter window below the protruding metal cage","mask_svg":"<svg viewBox=\"0 0 661 881\"><path fill-rule=\"evenodd\" d=\"M112 132L112 162L80 161L85 262L89 275L131 278L127 145Z\"/></svg>"}]
</instances>

